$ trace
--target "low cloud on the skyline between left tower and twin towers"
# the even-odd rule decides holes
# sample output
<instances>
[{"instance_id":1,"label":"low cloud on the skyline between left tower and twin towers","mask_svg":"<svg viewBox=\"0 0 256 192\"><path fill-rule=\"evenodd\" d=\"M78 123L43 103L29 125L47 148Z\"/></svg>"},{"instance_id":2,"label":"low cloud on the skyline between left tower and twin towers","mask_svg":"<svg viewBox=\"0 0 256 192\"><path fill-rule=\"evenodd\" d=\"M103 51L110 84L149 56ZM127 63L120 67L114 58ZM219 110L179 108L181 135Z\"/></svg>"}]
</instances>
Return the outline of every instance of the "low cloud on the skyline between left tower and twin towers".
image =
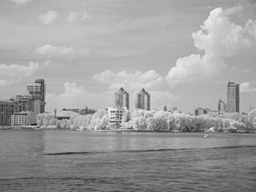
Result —
<instances>
[{"instance_id":1,"label":"low cloud on the skyline between left tower and twin towers","mask_svg":"<svg viewBox=\"0 0 256 192\"><path fill-rule=\"evenodd\" d=\"M77 83L67 82L64 86L65 92L60 95L46 93L47 111L53 111L54 108L58 110L63 108L84 109L85 106L88 106L88 108L102 109L113 106L113 93L111 92L89 93Z\"/></svg>"}]
</instances>

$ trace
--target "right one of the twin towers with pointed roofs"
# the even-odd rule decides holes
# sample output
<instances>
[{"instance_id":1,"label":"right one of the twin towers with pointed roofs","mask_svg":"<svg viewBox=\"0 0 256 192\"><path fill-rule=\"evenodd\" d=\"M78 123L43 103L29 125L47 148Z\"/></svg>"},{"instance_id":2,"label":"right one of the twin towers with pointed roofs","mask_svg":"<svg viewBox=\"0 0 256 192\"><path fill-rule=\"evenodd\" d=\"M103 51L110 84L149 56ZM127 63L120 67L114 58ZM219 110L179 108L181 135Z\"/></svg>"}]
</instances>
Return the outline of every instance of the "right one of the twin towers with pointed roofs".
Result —
<instances>
[{"instance_id":1,"label":"right one of the twin towers with pointed roofs","mask_svg":"<svg viewBox=\"0 0 256 192\"><path fill-rule=\"evenodd\" d=\"M145 92L144 89L141 92L136 94L136 109L143 109L146 111L150 111L150 94Z\"/></svg>"}]
</instances>

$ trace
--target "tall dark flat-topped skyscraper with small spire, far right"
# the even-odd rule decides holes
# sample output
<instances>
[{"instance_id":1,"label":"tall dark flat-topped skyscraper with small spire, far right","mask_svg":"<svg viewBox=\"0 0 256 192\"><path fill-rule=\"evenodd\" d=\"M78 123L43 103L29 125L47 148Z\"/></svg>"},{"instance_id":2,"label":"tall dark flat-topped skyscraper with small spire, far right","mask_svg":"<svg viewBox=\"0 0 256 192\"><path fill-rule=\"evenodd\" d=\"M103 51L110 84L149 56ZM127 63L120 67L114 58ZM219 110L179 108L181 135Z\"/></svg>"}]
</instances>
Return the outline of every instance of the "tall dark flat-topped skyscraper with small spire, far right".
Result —
<instances>
[{"instance_id":1,"label":"tall dark flat-topped skyscraper with small spire, far right","mask_svg":"<svg viewBox=\"0 0 256 192\"><path fill-rule=\"evenodd\" d=\"M227 84L227 111L231 113L239 113L239 84Z\"/></svg>"}]
</instances>

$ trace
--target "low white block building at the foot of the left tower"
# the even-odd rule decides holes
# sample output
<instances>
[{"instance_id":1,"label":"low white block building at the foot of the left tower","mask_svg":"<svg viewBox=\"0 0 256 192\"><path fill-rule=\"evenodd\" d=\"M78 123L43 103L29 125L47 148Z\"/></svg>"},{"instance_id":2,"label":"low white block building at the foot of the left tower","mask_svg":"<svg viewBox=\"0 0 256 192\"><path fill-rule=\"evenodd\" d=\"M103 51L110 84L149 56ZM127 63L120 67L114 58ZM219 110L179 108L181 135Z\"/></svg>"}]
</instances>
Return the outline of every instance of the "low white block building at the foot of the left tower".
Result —
<instances>
[{"instance_id":1,"label":"low white block building at the foot of the left tower","mask_svg":"<svg viewBox=\"0 0 256 192\"><path fill-rule=\"evenodd\" d=\"M12 126L35 125L36 115L31 111L22 111L12 115Z\"/></svg>"}]
</instances>

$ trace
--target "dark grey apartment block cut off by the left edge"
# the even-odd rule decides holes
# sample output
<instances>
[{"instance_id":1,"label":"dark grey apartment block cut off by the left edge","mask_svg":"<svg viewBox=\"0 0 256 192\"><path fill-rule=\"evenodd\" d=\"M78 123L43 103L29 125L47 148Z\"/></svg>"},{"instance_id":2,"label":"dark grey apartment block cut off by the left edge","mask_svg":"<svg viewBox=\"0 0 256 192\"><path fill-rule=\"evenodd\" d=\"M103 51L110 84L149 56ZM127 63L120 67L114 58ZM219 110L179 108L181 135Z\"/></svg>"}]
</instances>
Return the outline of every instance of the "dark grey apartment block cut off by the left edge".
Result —
<instances>
[{"instance_id":1,"label":"dark grey apartment block cut off by the left edge","mask_svg":"<svg viewBox=\"0 0 256 192\"><path fill-rule=\"evenodd\" d=\"M15 110L13 100L0 100L0 126L11 125Z\"/></svg>"}]
</instances>

